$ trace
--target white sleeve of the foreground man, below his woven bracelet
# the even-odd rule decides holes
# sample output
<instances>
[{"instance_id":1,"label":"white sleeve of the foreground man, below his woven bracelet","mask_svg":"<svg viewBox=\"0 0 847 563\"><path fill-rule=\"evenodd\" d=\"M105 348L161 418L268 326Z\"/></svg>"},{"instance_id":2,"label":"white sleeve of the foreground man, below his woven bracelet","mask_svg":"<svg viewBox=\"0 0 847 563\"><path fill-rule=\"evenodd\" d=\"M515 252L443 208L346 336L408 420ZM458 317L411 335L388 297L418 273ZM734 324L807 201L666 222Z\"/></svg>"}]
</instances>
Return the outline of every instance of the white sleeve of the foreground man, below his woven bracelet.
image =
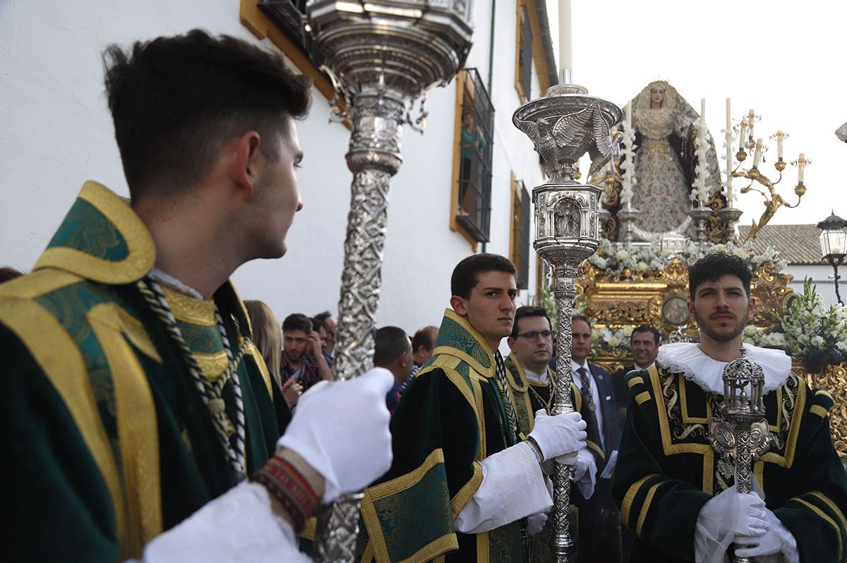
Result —
<instances>
[{"instance_id":1,"label":"white sleeve of the foreground man, below his woven bracelet","mask_svg":"<svg viewBox=\"0 0 847 563\"><path fill-rule=\"evenodd\" d=\"M270 508L268 491L241 483L208 502L179 526L147 544L145 563L185 561L311 561L297 549L288 522Z\"/></svg>"}]
</instances>

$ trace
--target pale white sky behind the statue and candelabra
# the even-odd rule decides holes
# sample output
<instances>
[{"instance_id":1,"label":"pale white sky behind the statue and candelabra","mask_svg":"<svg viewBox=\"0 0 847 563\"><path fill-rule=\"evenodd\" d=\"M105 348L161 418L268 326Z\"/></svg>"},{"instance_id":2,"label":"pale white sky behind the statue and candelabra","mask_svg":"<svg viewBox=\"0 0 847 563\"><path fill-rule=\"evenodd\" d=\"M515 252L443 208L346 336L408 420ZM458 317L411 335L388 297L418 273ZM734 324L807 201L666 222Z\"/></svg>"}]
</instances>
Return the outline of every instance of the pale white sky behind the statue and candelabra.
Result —
<instances>
[{"instance_id":1,"label":"pale white sky behind the statue and candelabra","mask_svg":"<svg viewBox=\"0 0 847 563\"><path fill-rule=\"evenodd\" d=\"M558 58L558 0L547 6ZM573 0L572 18L573 81L590 94L623 107L650 81L667 80L698 113L706 98L718 156L726 98L734 124L755 109L756 137L771 146L759 169L773 180L777 147L768 137L777 130L791 135L784 141L789 166L776 186L789 203L797 201L797 168L790 162L800 152L811 160L800 207L780 209L771 224L817 224L833 208L847 218L847 144L834 135L847 121L847 3ZM726 161L719 165L725 170ZM758 220L762 201L753 192L738 196L741 224Z\"/></svg>"}]
</instances>

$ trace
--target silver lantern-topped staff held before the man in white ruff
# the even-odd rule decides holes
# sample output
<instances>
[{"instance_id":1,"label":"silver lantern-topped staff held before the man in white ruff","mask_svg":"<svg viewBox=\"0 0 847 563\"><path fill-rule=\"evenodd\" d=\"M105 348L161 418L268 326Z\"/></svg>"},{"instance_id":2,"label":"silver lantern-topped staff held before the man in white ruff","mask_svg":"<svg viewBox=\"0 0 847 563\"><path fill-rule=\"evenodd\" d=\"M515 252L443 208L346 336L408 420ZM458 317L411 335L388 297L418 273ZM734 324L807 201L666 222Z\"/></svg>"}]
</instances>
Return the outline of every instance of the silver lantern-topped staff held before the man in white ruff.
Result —
<instances>
[{"instance_id":1,"label":"silver lantern-topped staff held before the man in white ruff","mask_svg":"<svg viewBox=\"0 0 847 563\"><path fill-rule=\"evenodd\" d=\"M753 490L752 466L771 445L764 399L765 374L761 366L741 357L723 368L723 406L709 420L711 446L727 465L734 463L735 485L739 493ZM741 547L741 546L736 546ZM735 557L734 563L751 563L747 557Z\"/></svg>"}]
</instances>

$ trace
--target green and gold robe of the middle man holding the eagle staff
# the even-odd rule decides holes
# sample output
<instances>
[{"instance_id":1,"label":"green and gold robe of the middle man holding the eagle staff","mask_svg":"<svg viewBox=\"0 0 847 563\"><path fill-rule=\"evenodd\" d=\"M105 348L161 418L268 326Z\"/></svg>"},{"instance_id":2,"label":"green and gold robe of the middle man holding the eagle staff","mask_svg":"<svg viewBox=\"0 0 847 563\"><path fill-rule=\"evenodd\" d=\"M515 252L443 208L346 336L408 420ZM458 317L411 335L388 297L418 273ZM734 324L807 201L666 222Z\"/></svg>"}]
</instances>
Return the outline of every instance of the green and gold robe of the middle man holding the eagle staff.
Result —
<instances>
[{"instance_id":1,"label":"green and gold robe of the middle man holding the eagle staff","mask_svg":"<svg viewBox=\"0 0 847 563\"><path fill-rule=\"evenodd\" d=\"M514 443L507 424L492 350L448 309L391 418L391 468L365 492L362 560L522 561L518 522L477 534L453 527L482 483L479 461Z\"/></svg>"}]
</instances>

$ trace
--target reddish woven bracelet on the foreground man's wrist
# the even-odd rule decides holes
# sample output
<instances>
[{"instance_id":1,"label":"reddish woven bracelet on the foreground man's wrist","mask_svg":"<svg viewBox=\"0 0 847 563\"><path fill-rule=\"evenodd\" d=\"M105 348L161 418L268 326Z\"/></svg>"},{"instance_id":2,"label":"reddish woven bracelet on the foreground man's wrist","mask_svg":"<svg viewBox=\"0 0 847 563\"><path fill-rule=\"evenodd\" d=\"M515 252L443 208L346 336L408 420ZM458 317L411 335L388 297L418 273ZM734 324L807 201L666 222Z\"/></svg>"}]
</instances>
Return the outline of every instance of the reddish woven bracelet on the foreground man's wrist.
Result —
<instances>
[{"instance_id":1,"label":"reddish woven bracelet on the foreground man's wrist","mask_svg":"<svg viewBox=\"0 0 847 563\"><path fill-rule=\"evenodd\" d=\"M306 526L306 519L312 516L320 504L318 495L306 477L303 477L295 466L277 455L254 473L252 480L263 484L268 493L273 494L274 498L282 503L294 522L296 532Z\"/></svg>"}]
</instances>

